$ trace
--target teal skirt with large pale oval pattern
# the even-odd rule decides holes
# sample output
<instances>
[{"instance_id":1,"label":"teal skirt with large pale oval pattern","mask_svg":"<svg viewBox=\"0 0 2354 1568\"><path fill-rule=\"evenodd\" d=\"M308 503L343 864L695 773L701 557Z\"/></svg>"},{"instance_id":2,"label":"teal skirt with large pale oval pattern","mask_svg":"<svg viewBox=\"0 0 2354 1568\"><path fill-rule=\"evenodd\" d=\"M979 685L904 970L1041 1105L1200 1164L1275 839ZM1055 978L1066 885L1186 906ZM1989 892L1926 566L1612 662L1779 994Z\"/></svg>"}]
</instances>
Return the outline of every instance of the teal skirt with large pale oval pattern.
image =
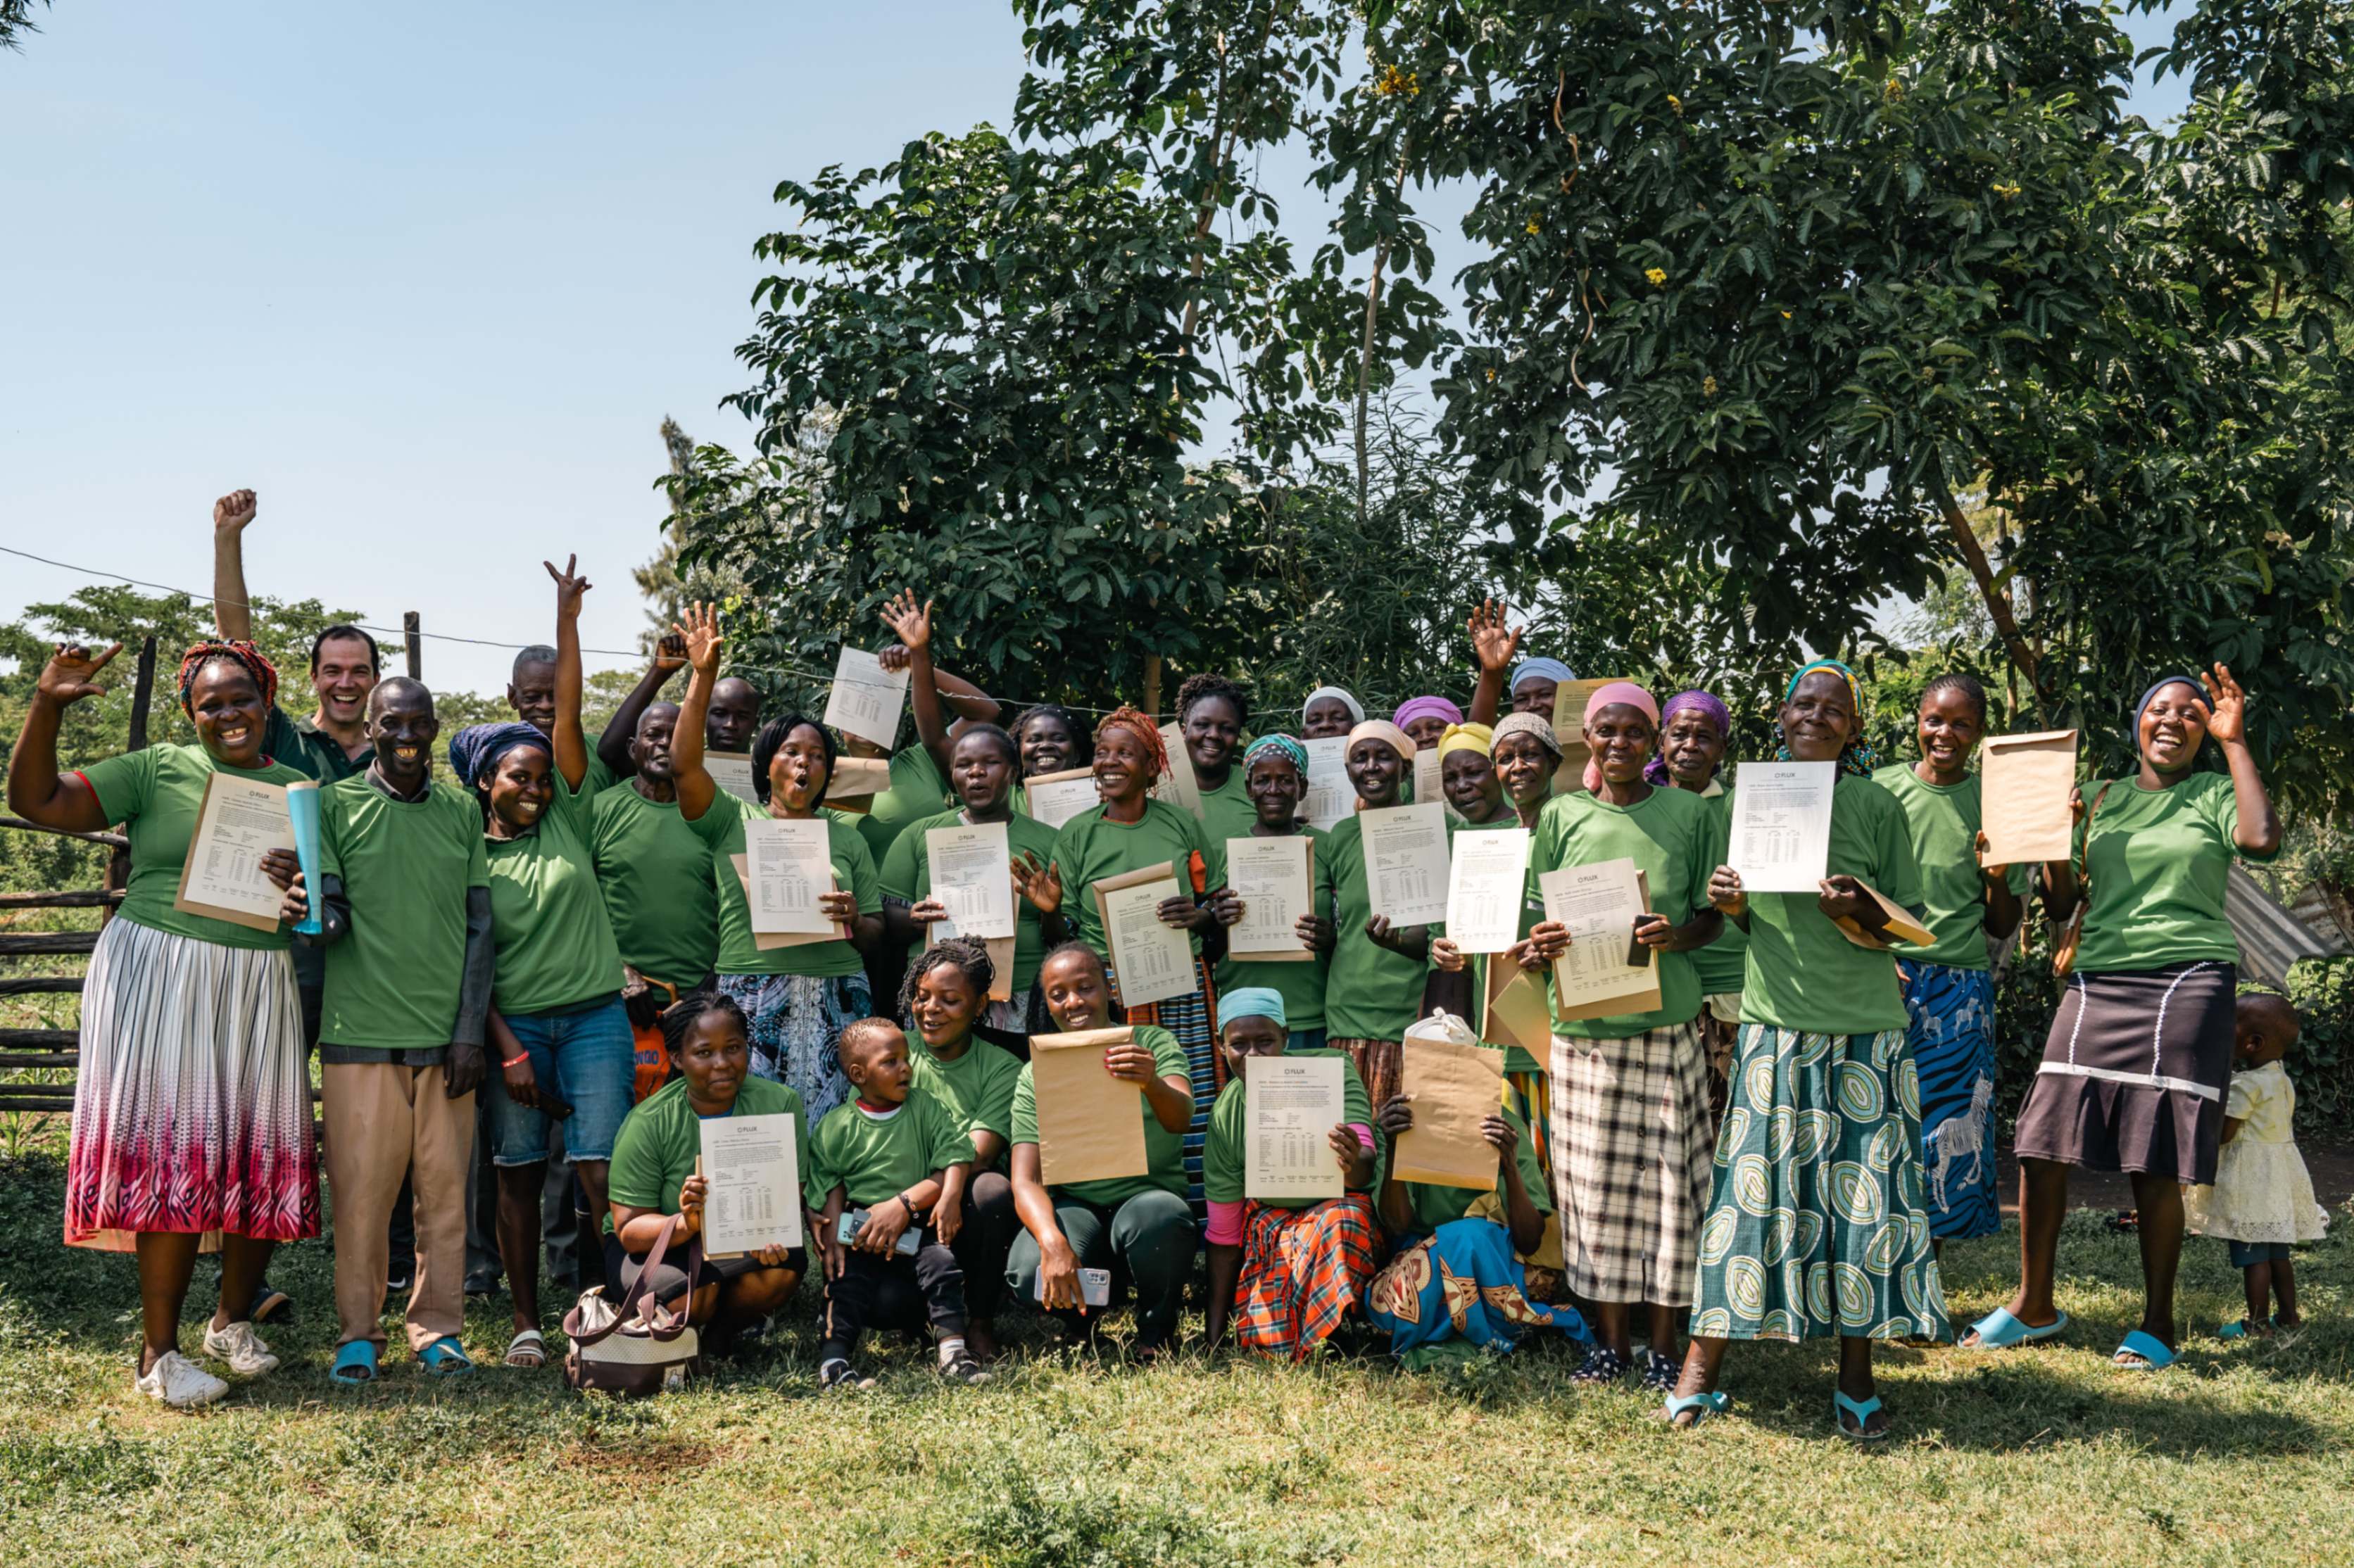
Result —
<instances>
[{"instance_id":1,"label":"teal skirt with large pale oval pattern","mask_svg":"<svg viewBox=\"0 0 2354 1568\"><path fill-rule=\"evenodd\" d=\"M1693 1333L1949 1340L1902 1029L1742 1024L1700 1227Z\"/></svg>"}]
</instances>

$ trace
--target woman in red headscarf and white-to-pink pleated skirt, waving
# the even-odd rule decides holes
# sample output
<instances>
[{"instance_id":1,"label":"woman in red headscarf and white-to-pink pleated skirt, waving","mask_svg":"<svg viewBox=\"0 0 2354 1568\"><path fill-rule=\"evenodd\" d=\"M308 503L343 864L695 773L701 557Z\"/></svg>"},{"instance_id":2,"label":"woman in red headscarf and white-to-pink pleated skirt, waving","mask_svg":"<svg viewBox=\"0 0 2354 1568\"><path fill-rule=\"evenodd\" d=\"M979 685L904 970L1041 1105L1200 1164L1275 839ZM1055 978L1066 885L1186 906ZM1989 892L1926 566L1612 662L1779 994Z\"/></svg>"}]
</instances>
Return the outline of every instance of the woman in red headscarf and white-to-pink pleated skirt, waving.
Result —
<instances>
[{"instance_id":1,"label":"woman in red headscarf and white-to-pink pleated skirt, waving","mask_svg":"<svg viewBox=\"0 0 2354 1568\"><path fill-rule=\"evenodd\" d=\"M181 864L214 775L297 784L261 753L278 671L252 643L198 643L179 664L195 746L56 770L68 706L97 697L99 657L59 647L40 671L9 758L7 798L26 822L97 833L122 822L132 876L82 982L66 1243L139 1255L139 1391L205 1406L228 1384L179 1354L198 1250L221 1253L221 1307L205 1354L257 1377L278 1366L247 1316L271 1248L318 1236L311 1078L287 928L174 909ZM271 850L292 873L292 852Z\"/></svg>"}]
</instances>

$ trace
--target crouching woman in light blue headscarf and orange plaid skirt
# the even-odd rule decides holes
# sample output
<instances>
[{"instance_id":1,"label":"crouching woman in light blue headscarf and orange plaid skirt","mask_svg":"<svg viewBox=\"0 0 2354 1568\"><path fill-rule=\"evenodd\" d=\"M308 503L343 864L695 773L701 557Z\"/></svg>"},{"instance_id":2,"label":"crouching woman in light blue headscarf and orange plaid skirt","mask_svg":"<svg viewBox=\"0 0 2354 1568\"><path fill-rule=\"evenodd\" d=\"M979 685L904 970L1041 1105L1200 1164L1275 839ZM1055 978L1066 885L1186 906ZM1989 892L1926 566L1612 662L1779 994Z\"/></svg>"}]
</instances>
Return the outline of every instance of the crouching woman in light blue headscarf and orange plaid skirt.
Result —
<instances>
[{"instance_id":1,"label":"crouching woman in light blue headscarf and orange plaid skirt","mask_svg":"<svg viewBox=\"0 0 2354 1568\"><path fill-rule=\"evenodd\" d=\"M1290 1041L1283 996L1266 986L1229 991L1217 1003L1226 1052L1226 1088L1210 1109L1201 1182L1210 1198L1210 1344L1233 1337L1264 1356L1306 1361L1349 1316L1379 1260L1379 1231L1368 1196L1382 1154L1372 1140L1365 1081L1342 1050L1295 1050L1292 1057L1342 1064L1342 1121L1325 1142L1342 1172L1339 1198L1245 1198L1250 1142L1250 1057L1281 1057Z\"/></svg>"}]
</instances>

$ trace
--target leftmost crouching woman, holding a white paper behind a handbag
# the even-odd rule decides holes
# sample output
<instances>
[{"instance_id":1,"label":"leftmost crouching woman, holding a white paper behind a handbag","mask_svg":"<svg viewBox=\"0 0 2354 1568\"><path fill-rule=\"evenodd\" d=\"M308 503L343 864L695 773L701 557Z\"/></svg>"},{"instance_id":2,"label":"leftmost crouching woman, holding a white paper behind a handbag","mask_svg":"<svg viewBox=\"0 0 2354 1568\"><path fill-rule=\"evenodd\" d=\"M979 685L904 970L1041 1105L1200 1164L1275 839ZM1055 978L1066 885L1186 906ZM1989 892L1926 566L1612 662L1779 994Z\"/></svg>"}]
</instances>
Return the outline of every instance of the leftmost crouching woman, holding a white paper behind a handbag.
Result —
<instances>
[{"instance_id":1,"label":"leftmost crouching woman, holding a white paper behind a handbag","mask_svg":"<svg viewBox=\"0 0 2354 1568\"><path fill-rule=\"evenodd\" d=\"M751 1076L751 1026L744 1010L713 991L694 991L669 1008L661 1043L671 1052L671 1081L645 1097L621 1121L605 1177L612 1212L605 1217L605 1274L621 1290L638 1283L645 1255L661 1224L678 1215L661 1267L647 1285L657 1302L687 1295L687 1243L704 1234L701 1123L720 1116L793 1118L793 1154L800 1194L810 1196L810 1137L800 1095L784 1083ZM810 1220L803 1217L807 1227ZM727 1354L737 1335L777 1311L807 1271L805 1248L760 1248L739 1257L701 1257L694 1267L687 1321L704 1330L711 1354Z\"/></svg>"}]
</instances>

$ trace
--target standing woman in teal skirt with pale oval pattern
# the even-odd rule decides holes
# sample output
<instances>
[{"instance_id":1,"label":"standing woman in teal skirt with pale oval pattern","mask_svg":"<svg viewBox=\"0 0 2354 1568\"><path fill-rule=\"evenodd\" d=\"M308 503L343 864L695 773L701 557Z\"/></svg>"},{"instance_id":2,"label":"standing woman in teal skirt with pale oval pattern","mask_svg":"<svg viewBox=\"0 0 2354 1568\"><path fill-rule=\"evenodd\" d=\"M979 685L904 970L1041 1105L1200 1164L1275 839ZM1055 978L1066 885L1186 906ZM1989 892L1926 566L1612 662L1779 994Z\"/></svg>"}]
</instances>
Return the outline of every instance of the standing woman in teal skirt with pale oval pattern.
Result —
<instances>
[{"instance_id":1,"label":"standing woman in teal skirt with pale oval pattern","mask_svg":"<svg viewBox=\"0 0 2354 1568\"><path fill-rule=\"evenodd\" d=\"M1874 1340L1944 1340L1928 1245L1921 1081L1888 916L1921 916L1904 808L1871 782L1853 671L1817 659L1782 697L1782 756L1838 763L1829 876L1820 892L1749 892L1718 866L1709 895L1749 930L1733 1104L1716 1140L1716 1196L1700 1227L1693 1349L1667 1401L1697 1424L1725 1408L1716 1375L1733 1340L1838 1337L1838 1431L1888 1436ZM1850 942L1853 921L1874 946Z\"/></svg>"}]
</instances>

